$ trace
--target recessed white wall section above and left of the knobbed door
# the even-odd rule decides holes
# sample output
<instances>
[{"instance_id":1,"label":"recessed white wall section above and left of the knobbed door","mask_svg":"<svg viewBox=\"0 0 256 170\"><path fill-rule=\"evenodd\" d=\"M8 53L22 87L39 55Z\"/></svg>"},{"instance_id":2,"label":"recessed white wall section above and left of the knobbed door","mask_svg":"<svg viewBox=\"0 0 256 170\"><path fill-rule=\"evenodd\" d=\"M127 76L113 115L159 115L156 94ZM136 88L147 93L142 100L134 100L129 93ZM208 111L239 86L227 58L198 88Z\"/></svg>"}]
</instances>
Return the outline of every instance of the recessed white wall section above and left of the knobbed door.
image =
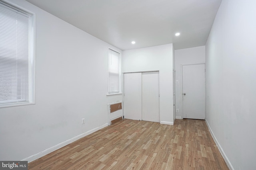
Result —
<instances>
[{"instance_id":1,"label":"recessed white wall section above and left of the knobbed door","mask_svg":"<svg viewBox=\"0 0 256 170\"><path fill-rule=\"evenodd\" d=\"M205 63L205 46L175 50L175 68L176 68L176 119L183 118L182 109L182 64Z\"/></svg>"}]
</instances>

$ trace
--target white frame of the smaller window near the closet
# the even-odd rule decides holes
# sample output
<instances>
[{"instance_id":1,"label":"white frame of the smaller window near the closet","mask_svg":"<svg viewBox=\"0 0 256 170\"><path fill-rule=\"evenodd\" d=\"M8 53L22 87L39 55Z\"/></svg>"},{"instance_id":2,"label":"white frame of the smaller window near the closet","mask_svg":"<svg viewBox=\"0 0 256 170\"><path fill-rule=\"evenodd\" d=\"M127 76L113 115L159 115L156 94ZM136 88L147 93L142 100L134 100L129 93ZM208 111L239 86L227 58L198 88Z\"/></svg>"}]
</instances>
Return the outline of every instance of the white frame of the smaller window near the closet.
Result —
<instances>
[{"instance_id":1,"label":"white frame of the smaller window near the closet","mask_svg":"<svg viewBox=\"0 0 256 170\"><path fill-rule=\"evenodd\" d=\"M118 81L119 81L119 86L118 86L118 92L109 92L109 60L110 60L110 52L109 51L114 51L115 53L118 53L119 56L118 56L118 61L119 61L119 68L118 68ZM107 96L111 96L111 95L116 95L116 94L122 94L121 93L121 53L114 50L114 49L111 49L111 48L108 48L108 93L107 93Z\"/></svg>"}]
</instances>

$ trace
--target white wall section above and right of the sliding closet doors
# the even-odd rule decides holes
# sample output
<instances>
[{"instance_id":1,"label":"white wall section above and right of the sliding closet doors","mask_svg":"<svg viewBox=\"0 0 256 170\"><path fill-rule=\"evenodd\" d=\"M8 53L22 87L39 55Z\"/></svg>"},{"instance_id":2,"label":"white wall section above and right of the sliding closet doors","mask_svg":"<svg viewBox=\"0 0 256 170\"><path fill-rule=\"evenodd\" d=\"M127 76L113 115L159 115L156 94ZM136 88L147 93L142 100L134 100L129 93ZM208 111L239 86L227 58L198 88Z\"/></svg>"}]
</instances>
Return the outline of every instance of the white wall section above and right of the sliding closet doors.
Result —
<instances>
[{"instance_id":1,"label":"white wall section above and right of the sliding closet doors","mask_svg":"<svg viewBox=\"0 0 256 170\"><path fill-rule=\"evenodd\" d=\"M123 51L123 72L159 70L160 123L173 124L172 44Z\"/></svg>"}]
</instances>

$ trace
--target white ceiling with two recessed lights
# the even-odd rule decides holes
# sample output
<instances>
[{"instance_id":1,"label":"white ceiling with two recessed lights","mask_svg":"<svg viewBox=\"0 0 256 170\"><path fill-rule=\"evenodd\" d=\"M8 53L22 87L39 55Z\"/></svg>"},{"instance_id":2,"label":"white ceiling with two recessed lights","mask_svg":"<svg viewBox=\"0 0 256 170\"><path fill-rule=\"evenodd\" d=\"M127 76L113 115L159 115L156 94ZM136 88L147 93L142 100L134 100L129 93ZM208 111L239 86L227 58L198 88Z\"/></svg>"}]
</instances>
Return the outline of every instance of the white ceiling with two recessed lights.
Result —
<instances>
[{"instance_id":1,"label":"white ceiling with two recessed lights","mask_svg":"<svg viewBox=\"0 0 256 170\"><path fill-rule=\"evenodd\" d=\"M175 49L205 45L222 0L26 1L127 50L168 43Z\"/></svg>"}]
</instances>

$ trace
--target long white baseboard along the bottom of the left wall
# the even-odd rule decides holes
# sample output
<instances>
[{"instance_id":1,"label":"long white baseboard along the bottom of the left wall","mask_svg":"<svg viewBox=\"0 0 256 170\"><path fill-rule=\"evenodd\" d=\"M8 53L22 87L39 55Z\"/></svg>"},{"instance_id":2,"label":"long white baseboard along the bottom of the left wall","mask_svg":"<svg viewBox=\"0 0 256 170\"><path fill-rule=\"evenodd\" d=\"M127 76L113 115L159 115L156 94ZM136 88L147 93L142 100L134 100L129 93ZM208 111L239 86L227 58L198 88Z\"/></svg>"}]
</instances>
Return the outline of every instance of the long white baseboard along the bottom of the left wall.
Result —
<instances>
[{"instance_id":1,"label":"long white baseboard along the bottom of the left wall","mask_svg":"<svg viewBox=\"0 0 256 170\"><path fill-rule=\"evenodd\" d=\"M39 153L34 154L34 155L32 155L32 156L29 156L28 158L24 158L24 159L22 159L22 161L28 161L28 163L29 163L29 162L32 162L33 160L36 160L36 159L38 159L38 158L41 158L42 156L44 156L44 155L46 155L46 154L48 154L48 153L50 153L50 152L53 152L54 150L60 149L61 147L64 147L64 146L66 146L66 145L68 145L68 144L70 144L70 143L72 143L72 142L74 142L74 141L76 141L76 140L78 140L78 139L80 139L80 138L82 138L82 137L85 137L85 136L87 136L87 135L90 135L91 133L94 133L94 132L96 132L96 131L98 131L98 130L104 128L104 127L107 127L107 126L108 126L108 123L106 123L106 124L104 124L104 125L102 125L102 126L96 127L96 128L94 128L94 129L92 129L92 130L90 130L90 131L87 131L87 132L85 132L85 133L82 133L81 135L78 135L78 136L76 136L76 137L73 137L73 138L71 138L71 139L68 139L67 141L64 141L64 142L62 142L62 143L59 143L58 145L55 145L55 146L50 147L50 148L48 148L48 149L46 149L46 150L43 150L42 152L39 152Z\"/></svg>"}]
</instances>

